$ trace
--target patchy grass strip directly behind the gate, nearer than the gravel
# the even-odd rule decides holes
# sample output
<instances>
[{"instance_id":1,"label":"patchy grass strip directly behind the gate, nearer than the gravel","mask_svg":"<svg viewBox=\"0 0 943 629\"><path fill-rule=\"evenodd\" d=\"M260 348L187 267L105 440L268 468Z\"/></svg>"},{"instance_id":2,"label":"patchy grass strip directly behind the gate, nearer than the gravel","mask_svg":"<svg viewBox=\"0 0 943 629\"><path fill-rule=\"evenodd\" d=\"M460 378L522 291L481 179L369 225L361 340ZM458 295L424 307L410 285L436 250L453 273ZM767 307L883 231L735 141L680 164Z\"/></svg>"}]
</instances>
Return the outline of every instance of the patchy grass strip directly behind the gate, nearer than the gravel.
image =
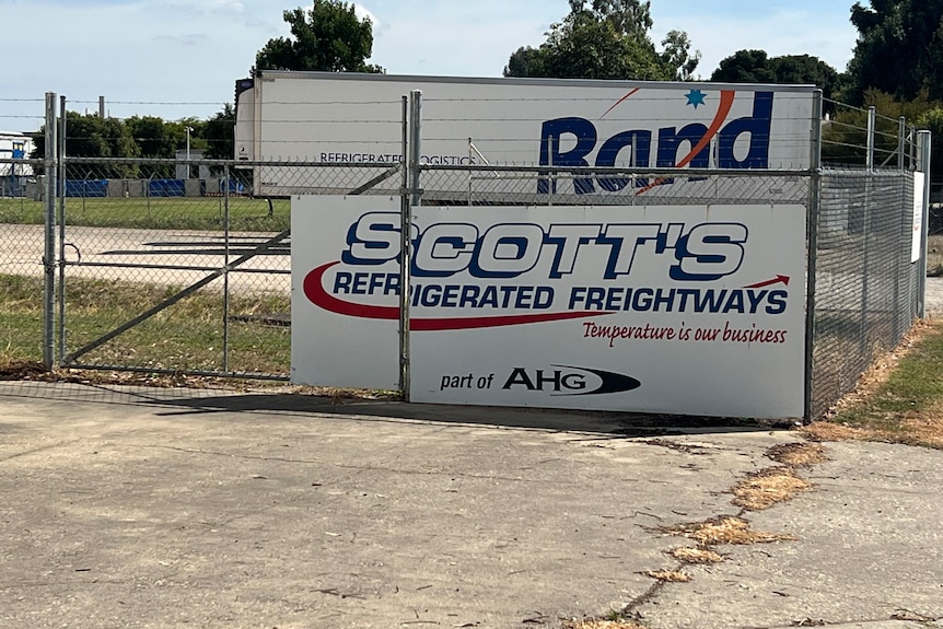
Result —
<instances>
[{"instance_id":1,"label":"patchy grass strip directly behind the gate, nearer than the gravel","mask_svg":"<svg viewBox=\"0 0 943 629\"><path fill-rule=\"evenodd\" d=\"M42 279L0 275L0 363L42 358ZM149 310L176 289L137 282L70 280L66 306L67 351ZM289 295L232 295L228 317L229 363L223 362L223 296L197 292L119 335L79 362L140 369L200 370L287 375L291 334L265 323L290 311Z\"/></svg>"}]
</instances>

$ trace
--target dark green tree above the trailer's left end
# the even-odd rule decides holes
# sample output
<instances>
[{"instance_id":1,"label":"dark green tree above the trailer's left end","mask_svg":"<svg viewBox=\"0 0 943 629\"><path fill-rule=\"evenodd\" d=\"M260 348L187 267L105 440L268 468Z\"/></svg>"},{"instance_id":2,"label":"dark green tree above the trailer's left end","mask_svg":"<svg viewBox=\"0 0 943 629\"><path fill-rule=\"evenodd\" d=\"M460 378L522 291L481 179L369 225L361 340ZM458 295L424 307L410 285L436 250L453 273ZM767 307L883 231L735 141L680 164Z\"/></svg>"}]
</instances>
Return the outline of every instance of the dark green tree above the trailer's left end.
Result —
<instances>
[{"instance_id":1,"label":"dark green tree above the trailer's left end","mask_svg":"<svg viewBox=\"0 0 943 629\"><path fill-rule=\"evenodd\" d=\"M373 24L360 20L353 4L340 0L314 0L311 9L282 13L294 37L269 39L256 54L256 70L323 70L328 72L383 72L366 63L373 51Z\"/></svg>"}]
</instances>

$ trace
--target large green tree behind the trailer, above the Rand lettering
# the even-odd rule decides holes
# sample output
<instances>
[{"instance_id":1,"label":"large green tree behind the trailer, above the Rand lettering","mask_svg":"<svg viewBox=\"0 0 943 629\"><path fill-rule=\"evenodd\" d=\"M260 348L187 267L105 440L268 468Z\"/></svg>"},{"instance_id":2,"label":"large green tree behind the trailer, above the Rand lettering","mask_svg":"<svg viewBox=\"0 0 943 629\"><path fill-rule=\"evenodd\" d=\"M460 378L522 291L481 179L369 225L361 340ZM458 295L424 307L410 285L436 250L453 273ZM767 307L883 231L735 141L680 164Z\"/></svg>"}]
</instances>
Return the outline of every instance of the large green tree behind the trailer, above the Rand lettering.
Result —
<instances>
[{"instance_id":1,"label":"large green tree behind the trailer, above the Rand lettering","mask_svg":"<svg viewBox=\"0 0 943 629\"><path fill-rule=\"evenodd\" d=\"M700 60L687 34L672 31L659 53L649 37L651 2L570 0L570 13L552 24L539 47L511 55L505 77L561 79L689 79Z\"/></svg>"}]
</instances>

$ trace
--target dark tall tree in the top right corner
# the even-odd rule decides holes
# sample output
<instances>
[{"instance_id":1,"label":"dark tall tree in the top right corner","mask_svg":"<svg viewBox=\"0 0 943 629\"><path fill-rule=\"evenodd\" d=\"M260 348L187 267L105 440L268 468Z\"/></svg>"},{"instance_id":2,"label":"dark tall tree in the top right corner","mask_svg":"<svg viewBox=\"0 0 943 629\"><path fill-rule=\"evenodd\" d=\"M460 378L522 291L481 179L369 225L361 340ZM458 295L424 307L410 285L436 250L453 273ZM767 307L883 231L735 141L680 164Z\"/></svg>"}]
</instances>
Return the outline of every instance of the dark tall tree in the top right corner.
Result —
<instances>
[{"instance_id":1,"label":"dark tall tree in the top right corner","mask_svg":"<svg viewBox=\"0 0 943 629\"><path fill-rule=\"evenodd\" d=\"M916 98L943 98L943 0L855 2L858 43L848 66L848 100L860 105L869 89Z\"/></svg>"}]
</instances>

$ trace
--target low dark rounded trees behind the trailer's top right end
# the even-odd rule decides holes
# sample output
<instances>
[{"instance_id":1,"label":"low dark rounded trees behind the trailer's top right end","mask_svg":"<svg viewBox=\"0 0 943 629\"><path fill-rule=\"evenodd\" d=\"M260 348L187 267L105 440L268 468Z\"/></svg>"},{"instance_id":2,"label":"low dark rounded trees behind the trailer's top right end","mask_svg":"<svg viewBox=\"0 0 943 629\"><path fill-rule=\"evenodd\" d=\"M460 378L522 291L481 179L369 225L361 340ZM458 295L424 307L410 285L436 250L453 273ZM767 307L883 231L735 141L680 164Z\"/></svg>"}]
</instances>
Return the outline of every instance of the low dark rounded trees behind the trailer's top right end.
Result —
<instances>
[{"instance_id":1,"label":"low dark rounded trees behind the trailer's top right end","mask_svg":"<svg viewBox=\"0 0 943 629\"><path fill-rule=\"evenodd\" d=\"M723 59L711 81L724 83L802 83L822 88L834 97L840 84L838 71L817 57L784 55L769 57L764 50L737 50Z\"/></svg>"}]
</instances>

